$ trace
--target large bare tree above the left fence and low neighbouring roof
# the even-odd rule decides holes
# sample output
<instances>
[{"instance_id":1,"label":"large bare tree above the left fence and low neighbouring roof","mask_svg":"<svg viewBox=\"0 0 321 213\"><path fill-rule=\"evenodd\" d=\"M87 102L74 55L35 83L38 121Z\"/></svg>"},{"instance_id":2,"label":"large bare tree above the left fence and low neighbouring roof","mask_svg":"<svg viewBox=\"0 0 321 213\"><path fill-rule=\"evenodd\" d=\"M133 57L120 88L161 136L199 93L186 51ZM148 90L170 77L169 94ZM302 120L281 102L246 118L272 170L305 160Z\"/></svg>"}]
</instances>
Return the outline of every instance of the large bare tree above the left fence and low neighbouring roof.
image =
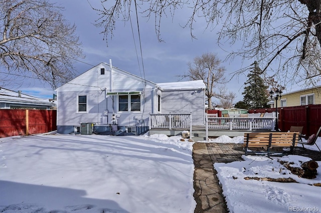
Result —
<instances>
[{"instance_id":1,"label":"large bare tree above the left fence and low neighbouring roof","mask_svg":"<svg viewBox=\"0 0 321 213\"><path fill-rule=\"evenodd\" d=\"M75 25L47 0L1 0L2 80L35 77L55 88L73 77L73 58L84 57ZM9 78L8 78L9 77Z\"/></svg>"}]
</instances>

